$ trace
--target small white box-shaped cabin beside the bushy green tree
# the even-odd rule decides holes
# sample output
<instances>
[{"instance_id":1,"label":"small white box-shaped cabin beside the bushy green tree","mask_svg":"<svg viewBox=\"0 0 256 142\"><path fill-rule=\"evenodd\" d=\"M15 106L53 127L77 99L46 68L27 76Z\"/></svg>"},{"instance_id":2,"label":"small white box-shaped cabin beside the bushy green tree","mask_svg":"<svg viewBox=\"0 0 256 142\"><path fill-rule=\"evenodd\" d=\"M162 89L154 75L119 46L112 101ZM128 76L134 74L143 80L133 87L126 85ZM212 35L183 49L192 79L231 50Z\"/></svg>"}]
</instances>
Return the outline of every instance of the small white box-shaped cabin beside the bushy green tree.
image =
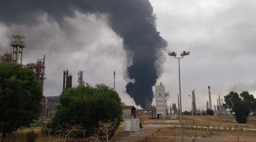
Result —
<instances>
[{"instance_id":1,"label":"small white box-shaped cabin beside the bushy green tree","mask_svg":"<svg viewBox=\"0 0 256 142\"><path fill-rule=\"evenodd\" d=\"M124 131L138 131L140 130L140 119L124 119Z\"/></svg>"}]
</instances>

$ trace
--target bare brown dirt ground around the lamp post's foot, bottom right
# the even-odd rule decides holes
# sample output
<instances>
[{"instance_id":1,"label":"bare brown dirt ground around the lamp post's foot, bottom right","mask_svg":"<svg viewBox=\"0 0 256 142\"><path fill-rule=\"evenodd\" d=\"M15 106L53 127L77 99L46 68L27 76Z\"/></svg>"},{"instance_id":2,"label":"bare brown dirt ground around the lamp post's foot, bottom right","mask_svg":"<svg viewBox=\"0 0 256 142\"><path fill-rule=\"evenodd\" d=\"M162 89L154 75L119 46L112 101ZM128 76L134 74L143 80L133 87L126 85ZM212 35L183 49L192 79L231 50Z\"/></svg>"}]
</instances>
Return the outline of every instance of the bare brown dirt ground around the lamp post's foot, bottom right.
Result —
<instances>
[{"instance_id":1,"label":"bare brown dirt ground around the lamp post's foot, bottom right","mask_svg":"<svg viewBox=\"0 0 256 142\"><path fill-rule=\"evenodd\" d=\"M256 133L234 130L191 130L183 129L184 142L255 142ZM163 127L154 133L147 142L180 142L180 128Z\"/></svg>"}]
</instances>

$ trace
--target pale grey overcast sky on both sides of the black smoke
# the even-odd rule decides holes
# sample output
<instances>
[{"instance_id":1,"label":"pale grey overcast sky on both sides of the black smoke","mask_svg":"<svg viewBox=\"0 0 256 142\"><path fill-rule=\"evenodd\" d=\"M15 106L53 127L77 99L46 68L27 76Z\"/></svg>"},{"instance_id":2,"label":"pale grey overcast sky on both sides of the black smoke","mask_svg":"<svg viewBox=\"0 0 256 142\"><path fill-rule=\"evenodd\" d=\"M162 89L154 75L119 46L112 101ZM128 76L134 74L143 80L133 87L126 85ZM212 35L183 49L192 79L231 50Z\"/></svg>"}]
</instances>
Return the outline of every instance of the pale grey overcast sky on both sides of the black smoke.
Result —
<instances>
[{"instance_id":1,"label":"pale grey overcast sky on both sides of the black smoke","mask_svg":"<svg viewBox=\"0 0 256 142\"><path fill-rule=\"evenodd\" d=\"M180 59L182 110L190 110L192 90L197 108L206 110L208 86L212 107L216 98L230 91L248 91L256 97L256 1L248 0L150 0L156 14L156 28L167 42L162 82L170 93L168 104L177 103L179 93L178 59L168 51L190 51ZM7 12L7 11L6 11ZM107 14L75 12L59 25L47 13L36 16L37 24L6 24L0 21L0 54L10 51L12 35L26 37L23 64L35 63L46 56L44 95L56 96L62 91L63 70L73 75L84 71L84 81L92 86L105 83L114 86L127 105L135 105L125 93L130 81L122 38L109 26ZM146 53L145 53L146 54ZM154 91L153 87L153 91ZM155 99L153 99L155 104ZM137 107L140 108L140 107Z\"/></svg>"}]
</instances>

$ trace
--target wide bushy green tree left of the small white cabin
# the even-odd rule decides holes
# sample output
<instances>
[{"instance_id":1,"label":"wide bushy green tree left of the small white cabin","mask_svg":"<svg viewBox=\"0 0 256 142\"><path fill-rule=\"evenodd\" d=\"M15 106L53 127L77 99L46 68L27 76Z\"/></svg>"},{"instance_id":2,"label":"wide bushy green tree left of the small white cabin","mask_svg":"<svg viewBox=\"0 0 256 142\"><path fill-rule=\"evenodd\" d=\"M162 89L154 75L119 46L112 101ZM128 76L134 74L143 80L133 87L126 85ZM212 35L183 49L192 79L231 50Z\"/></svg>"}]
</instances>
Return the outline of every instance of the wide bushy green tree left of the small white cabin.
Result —
<instances>
[{"instance_id":1,"label":"wide bushy green tree left of the small white cabin","mask_svg":"<svg viewBox=\"0 0 256 142\"><path fill-rule=\"evenodd\" d=\"M63 123L81 124L86 129L85 136L91 136L100 121L116 119L117 127L122 119L123 109L118 93L104 84L66 89L60 95L60 104L52 127Z\"/></svg>"}]
</instances>

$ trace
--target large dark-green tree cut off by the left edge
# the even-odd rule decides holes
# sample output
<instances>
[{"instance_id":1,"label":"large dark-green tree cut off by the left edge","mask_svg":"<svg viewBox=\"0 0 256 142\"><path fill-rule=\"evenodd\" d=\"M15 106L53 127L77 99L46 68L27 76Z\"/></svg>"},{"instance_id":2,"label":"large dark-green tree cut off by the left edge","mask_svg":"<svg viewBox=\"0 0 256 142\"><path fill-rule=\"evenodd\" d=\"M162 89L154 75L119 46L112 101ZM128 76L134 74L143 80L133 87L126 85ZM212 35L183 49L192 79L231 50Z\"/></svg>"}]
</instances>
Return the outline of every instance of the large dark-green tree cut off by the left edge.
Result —
<instances>
[{"instance_id":1,"label":"large dark-green tree cut off by the left edge","mask_svg":"<svg viewBox=\"0 0 256 142\"><path fill-rule=\"evenodd\" d=\"M21 64L0 62L0 131L6 133L36 120L43 90L33 71Z\"/></svg>"}]
</instances>

